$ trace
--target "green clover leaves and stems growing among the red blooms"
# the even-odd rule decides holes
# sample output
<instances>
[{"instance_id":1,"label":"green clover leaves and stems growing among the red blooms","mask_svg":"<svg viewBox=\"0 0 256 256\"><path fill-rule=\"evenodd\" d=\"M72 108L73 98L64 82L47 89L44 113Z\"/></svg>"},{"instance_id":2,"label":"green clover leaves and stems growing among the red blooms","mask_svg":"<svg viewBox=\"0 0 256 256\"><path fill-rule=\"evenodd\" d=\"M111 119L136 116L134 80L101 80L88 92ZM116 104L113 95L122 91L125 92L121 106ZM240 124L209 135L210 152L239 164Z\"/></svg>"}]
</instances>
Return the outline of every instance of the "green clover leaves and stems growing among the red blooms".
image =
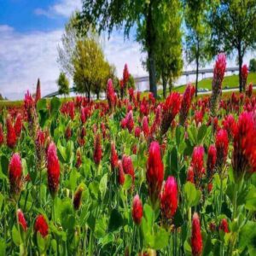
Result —
<instances>
[{"instance_id":1,"label":"green clover leaves and stems growing among the red blooms","mask_svg":"<svg viewBox=\"0 0 256 256\"><path fill-rule=\"evenodd\" d=\"M246 97L246 101L250 101ZM223 98L230 102L230 98ZM155 106L151 105L148 123L153 124ZM148 141L151 138L135 137L134 132L122 129L120 121L125 117L124 105L117 105L114 113L106 112L107 102L92 102L90 115L84 123L86 134L84 145L79 144L81 120L80 107L76 106L74 118L61 113L61 100L57 97L50 101L41 99L36 106L38 127L47 131L49 139L55 143L61 166L59 189L53 198L48 188L48 161L45 148L42 148L44 161L38 166L38 151L35 140L25 128L15 149L3 143L0 147L0 255L31 252L37 254L77 255L131 255L138 253L156 253L163 255L191 254L192 216L198 212L203 242L202 255L255 253L255 210L256 176L244 177L235 182L232 159L232 142L225 168L216 172L211 179L207 170L198 182L190 183L188 169L191 165L193 148L202 145L205 148L203 166L207 169L207 148L215 143L212 126L207 125L209 116L206 109L201 125L195 124L195 109L190 109L187 127L172 126L166 137L156 136L166 148L162 148L164 163L164 181L170 176L177 181L177 210L167 219L162 212L165 207L161 201L152 206L148 196L147 160ZM141 126L140 108L135 108L133 118L135 126ZM196 102L195 102L196 104ZM89 106L89 105L88 105ZM206 107L207 108L207 107ZM241 108L239 111L241 111ZM227 113L237 119L237 109L218 115L218 125ZM3 123L6 113L3 115ZM175 121L178 120L178 116ZM102 160L94 162L95 134L102 122L106 125L106 135L102 135ZM67 125L72 128L72 136L65 137ZM24 120L24 127L27 122ZM4 133L6 127L3 125ZM171 129L170 129L171 130ZM157 132L157 131L156 131ZM131 156L135 177L125 173L125 181L119 184L119 170L112 170L110 144L115 143L119 159L124 154ZM137 146L137 152L132 148ZM9 159L13 152L19 152L22 163L23 187L16 199L9 193ZM77 165L77 152L81 154L80 166ZM29 173L30 181L26 181ZM223 175L222 175L223 174ZM196 179L197 181L197 179ZM212 183L212 191L208 190ZM82 189L79 207L74 207L77 192ZM143 204L143 217L140 224L132 218L133 199L139 195ZM15 201L16 200L16 201ZM168 204L167 204L168 205ZM166 207L167 207L166 205ZM20 208L28 226L26 232L17 225L15 212ZM139 212L137 210L137 212ZM48 236L34 232L34 220L38 214L47 218ZM226 218L229 233L219 229L222 219ZM215 229L209 229L212 222Z\"/></svg>"}]
</instances>

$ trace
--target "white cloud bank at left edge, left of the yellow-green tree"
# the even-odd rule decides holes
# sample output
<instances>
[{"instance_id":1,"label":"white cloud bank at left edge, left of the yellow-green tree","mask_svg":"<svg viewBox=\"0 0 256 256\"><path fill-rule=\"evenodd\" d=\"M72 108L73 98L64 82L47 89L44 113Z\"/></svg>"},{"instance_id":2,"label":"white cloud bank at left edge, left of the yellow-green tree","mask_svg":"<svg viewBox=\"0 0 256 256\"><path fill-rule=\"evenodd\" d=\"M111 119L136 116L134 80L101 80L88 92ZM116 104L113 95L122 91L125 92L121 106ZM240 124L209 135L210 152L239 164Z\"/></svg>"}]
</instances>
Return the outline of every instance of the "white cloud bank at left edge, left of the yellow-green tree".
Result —
<instances>
[{"instance_id":1,"label":"white cloud bank at left edge, left of the yellow-green tree","mask_svg":"<svg viewBox=\"0 0 256 256\"><path fill-rule=\"evenodd\" d=\"M0 92L9 99L22 98L26 90L34 91L37 79L43 95L56 90L59 73L56 46L61 31L0 35ZM2 37L3 35L3 37Z\"/></svg>"}]
</instances>

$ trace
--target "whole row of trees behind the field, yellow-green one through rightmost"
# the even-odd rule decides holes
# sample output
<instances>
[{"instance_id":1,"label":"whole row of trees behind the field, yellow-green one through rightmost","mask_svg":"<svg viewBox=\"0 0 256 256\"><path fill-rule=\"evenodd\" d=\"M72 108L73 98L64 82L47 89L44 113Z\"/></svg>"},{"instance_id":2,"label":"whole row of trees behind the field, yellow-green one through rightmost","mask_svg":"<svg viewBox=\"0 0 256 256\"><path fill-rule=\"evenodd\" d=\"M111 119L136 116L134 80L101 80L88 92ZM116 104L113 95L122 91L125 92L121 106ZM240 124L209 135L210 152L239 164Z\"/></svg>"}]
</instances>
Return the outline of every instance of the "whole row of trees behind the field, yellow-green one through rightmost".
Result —
<instances>
[{"instance_id":1,"label":"whole row of trees behind the field, yellow-green one through rightmost","mask_svg":"<svg viewBox=\"0 0 256 256\"><path fill-rule=\"evenodd\" d=\"M106 84L104 76L114 79L114 68L105 60L99 38L102 32L111 36L116 28L124 28L125 38L131 35L131 30L136 31L135 39L147 53L143 64L154 96L158 81L163 84L164 96L167 84L172 90L173 82L183 70L184 57L189 64L195 64L197 92L199 67L204 67L219 52L236 53L242 90L243 58L248 50L256 48L255 0L83 0L82 3L82 11L73 15L66 26L58 59L78 90L83 87L89 92L90 88L97 94ZM89 48L94 49L94 56ZM92 66L102 67L97 72L100 78L95 77L95 71L82 72L85 61L89 61L88 70ZM251 64L250 69L253 71ZM92 81L91 77L96 79Z\"/></svg>"}]
</instances>

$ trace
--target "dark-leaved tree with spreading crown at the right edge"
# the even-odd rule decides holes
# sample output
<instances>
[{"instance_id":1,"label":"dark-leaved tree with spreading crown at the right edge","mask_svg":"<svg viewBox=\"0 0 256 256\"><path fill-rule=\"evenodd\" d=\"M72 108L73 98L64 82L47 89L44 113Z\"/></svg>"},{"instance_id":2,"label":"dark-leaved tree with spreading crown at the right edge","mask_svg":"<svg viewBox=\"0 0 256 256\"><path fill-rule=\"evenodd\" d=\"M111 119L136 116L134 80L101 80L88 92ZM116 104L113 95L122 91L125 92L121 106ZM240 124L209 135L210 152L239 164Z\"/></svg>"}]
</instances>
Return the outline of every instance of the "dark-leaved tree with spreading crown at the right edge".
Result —
<instances>
[{"instance_id":1,"label":"dark-leaved tree with spreading crown at the right edge","mask_svg":"<svg viewBox=\"0 0 256 256\"><path fill-rule=\"evenodd\" d=\"M237 51L239 88L242 90L241 66L247 50L256 48L255 0L218 0L211 5L212 51L228 55Z\"/></svg>"}]
</instances>

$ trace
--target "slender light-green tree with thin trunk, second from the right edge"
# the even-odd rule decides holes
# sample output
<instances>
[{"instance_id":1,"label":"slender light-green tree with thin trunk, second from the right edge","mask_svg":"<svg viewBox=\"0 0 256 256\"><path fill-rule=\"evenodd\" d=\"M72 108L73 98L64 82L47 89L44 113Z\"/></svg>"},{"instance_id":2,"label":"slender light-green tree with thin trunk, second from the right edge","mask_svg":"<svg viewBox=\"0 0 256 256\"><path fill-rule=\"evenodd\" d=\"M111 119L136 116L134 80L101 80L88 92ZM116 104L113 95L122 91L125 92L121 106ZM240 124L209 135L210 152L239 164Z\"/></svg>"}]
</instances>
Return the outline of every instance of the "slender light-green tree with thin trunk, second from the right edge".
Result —
<instances>
[{"instance_id":1,"label":"slender light-green tree with thin trunk, second from the right edge","mask_svg":"<svg viewBox=\"0 0 256 256\"><path fill-rule=\"evenodd\" d=\"M207 23L207 1L184 0L184 17L186 23L186 57L188 63L195 61L195 96L197 96L198 70L210 60L209 40L210 27Z\"/></svg>"}]
</instances>

